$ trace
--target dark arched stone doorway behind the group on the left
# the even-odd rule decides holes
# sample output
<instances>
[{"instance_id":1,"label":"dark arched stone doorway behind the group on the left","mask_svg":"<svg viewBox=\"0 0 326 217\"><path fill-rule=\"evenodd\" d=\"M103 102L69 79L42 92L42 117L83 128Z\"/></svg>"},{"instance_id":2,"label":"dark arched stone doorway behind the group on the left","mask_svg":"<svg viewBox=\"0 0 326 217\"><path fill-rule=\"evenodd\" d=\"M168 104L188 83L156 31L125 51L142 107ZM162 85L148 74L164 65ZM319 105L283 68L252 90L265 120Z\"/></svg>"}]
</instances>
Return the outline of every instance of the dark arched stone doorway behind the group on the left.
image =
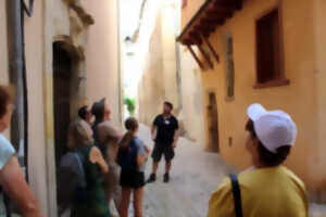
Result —
<instances>
[{"instance_id":1,"label":"dark arched stone doorway behind the group on the left","mask_svg":"<svg viewBox=\"0 0 326 217\"><path fill-rule=\"evenodd\" d=\"M53 116L55 165L67 152L67 130L76 118L78 107L85 103L86 87L83 85L84 58L66 40L53 43Z\"/></svg>"}]
</instances>

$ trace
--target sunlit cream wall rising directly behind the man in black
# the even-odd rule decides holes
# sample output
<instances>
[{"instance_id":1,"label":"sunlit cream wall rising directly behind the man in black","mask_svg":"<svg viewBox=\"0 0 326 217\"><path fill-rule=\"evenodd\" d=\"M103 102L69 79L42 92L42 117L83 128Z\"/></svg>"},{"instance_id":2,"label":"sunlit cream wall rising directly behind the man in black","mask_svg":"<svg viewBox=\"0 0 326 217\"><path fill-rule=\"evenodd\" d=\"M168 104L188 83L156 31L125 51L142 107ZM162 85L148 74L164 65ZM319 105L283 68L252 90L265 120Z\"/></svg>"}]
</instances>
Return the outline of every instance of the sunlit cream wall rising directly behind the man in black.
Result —
<instances>
[{"instance_id":1,"label":"sunlit cream wall rising directly behind the man in black","mask_svg":"<svg viewBox=\"0 0 326 217\"><path fill-rule=\"evenodd\" d=\"M180 112L175 29L175 9L166 3L156 17L139 86L139 117L147 125L162 113L164 101L174 104L176 116Z\"/></svg>"}]
</instances>

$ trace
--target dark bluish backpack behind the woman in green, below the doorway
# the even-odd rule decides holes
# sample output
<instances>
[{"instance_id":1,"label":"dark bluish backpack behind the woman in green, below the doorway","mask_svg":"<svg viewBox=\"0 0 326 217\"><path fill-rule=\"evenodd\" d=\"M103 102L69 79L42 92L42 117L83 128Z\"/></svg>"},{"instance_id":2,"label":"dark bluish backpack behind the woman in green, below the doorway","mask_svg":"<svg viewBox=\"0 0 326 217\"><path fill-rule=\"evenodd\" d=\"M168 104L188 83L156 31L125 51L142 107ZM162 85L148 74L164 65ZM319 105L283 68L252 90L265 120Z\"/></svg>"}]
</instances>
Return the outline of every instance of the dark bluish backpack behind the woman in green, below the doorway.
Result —
<instances>
[{"instance_id":1,"label":"dark bluish backpack behind the woman in green, below the doorway","mask_svg":"<svg viewBox=\"0 0 326 217\"><path fill-rule=\"evenodd\" d=\"M60 161L57 178L60 215L71 207L72 204L86 200L87 182L84 163L84 155L78 151L68 152Z\"/></svg>"}]
</instances>

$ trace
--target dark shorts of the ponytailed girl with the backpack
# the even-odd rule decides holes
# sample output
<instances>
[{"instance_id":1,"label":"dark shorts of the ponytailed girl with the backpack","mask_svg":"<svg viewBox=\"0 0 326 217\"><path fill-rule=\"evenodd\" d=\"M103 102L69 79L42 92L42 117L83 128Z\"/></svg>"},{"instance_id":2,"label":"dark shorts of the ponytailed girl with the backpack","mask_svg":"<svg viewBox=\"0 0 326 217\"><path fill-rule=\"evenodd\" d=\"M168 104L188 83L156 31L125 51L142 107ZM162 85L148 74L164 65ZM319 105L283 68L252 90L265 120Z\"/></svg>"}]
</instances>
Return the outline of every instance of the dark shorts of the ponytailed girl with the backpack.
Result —
<instances>
[{"instance_id":1,"label":"dark shorts of the ponytailed girl with the backpack","mask_svg":"<svg viewBox=\"0 0 326 217\"><path fill-rule=\"evenodd\" d=\"M120 186L123 188L139 189L145 186L145 173L123 170L120 176Z\"/></svg>"}]
</instances>

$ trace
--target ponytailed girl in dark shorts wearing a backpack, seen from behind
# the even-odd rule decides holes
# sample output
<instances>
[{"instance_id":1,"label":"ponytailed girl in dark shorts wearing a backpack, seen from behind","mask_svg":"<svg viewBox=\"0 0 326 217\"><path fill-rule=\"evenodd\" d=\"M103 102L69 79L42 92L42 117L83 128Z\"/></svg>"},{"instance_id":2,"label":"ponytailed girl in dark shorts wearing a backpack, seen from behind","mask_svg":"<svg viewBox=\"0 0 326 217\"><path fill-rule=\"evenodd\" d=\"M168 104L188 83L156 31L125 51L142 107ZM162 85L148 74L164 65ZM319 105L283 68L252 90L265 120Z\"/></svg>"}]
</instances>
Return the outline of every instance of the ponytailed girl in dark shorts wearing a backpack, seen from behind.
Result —
<instances>
[{"instance_id":1,"label":"ponytailed girl in dark shorts wearing a backpack, seen from behind","mask_svg":"<svg viewBox=\"0 0 326 217\"><path fill-rule=\"evenodd\" d=\"M117 163L122 167L120 184L122 203L120 216L127 217L131 191L134 192L135 217L142 217L142 200L145 186L146 162L150 150L137 137L139 124L134 117L125 122L128 130L120 142Z\"/></svg>"}]
</instances>

